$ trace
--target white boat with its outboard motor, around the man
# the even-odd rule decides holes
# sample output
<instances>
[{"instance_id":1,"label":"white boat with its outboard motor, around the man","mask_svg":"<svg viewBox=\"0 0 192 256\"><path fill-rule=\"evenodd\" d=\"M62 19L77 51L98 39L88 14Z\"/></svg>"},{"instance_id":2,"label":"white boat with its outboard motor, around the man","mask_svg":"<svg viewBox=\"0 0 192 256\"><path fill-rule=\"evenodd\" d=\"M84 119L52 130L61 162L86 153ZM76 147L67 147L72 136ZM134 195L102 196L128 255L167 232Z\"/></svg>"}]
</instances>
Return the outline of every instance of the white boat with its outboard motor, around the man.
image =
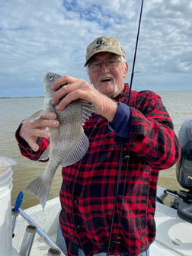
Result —
<instances>
[{"instance_id":1,"label":"white boat with its outboard motor, around the man","mask_svg":"<svg viewBox=\"0 0 192 256\"><path fill-rule=\"evenodd\" d=\"M166 190L158 187L155 211L156 237L150 247L151 256L191 256L192 255L192 119L186 120L179 133L182 153L177 165L178 182L186 190ZM171 206L164 204L167 195L173 200ZM57 248L56 232L59 224L59 197L49 200L44 211L41 205L19 210L13 243L13 255L20 255L21 247L26 244L24 236L26 226L37 228L34 242L27 245L30 255L47 255L49 248ZM23 254L25 256L25 254ZM27 256L29 253L27 254Z\"/></svg>"}]
</instances>

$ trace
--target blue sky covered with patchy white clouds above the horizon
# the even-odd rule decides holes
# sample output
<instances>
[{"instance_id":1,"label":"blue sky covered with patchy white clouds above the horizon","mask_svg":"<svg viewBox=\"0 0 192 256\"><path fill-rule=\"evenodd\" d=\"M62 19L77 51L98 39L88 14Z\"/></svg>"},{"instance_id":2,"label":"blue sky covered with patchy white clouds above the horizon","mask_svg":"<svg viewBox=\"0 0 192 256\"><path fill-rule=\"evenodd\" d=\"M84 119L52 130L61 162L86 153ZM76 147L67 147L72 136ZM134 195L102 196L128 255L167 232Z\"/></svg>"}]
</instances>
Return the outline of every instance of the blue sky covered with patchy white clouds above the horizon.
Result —
<instances>
[{"instance_id":1,"label":"blue sky covered with patchy white clouds above the horizon","mask_svg":"<svg viewBox=\"0 0 192 256\"><path fill-rule=\"evenodd\" d=\"M0 97L43 95L47 72L88 81L88 43L117 37L130 82L140 0L0 0ZM192 90L192 0L145 0L133 89Z\"/></svg>"}]
</instances>

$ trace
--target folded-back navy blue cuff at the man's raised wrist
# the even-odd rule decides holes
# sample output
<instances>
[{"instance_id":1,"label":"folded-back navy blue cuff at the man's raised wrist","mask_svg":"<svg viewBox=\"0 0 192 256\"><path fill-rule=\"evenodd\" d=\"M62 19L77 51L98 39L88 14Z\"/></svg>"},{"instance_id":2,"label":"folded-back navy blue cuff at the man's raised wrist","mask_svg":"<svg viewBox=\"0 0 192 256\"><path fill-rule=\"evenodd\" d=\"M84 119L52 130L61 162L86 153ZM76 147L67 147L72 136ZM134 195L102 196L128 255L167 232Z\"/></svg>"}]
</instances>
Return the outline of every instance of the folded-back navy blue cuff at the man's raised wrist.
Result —
<instances>
[{"instance_id":1,"label":"folded-back navy blue cuff at the man's raised wrist","mask_svg":"<svg viewBox=\"0 0 192 256\"><path fill-rule=\"evenodd\" d=\"M117 112L112 122L108 123L109 129L123 139L130 138L130 107L118 102Z\"/></svg>"}]
</instances>

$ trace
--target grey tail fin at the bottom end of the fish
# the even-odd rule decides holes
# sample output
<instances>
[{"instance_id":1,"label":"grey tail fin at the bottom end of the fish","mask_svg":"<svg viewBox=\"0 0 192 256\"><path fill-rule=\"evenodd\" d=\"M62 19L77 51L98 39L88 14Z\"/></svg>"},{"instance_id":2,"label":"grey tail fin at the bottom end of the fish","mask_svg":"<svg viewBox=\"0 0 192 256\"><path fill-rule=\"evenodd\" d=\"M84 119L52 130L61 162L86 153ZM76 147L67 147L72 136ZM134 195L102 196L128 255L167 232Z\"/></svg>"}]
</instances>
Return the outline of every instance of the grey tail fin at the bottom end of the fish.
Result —
<instances>
[{"instance_id":1,"label":"grey tail fin at the bottom end of the fish","mask_svg":"<svg viewBox=\"0 0 192 256\"><path fill-rule=\"evenodd\" d=\"M43 209L46 205L47 197L50 193L51 183L43 181L42 176L35 178L30 184L27 185L27 192L33 194L34 197L37 197L40 200L40 204Z\"/></svg>"}]
</instances>

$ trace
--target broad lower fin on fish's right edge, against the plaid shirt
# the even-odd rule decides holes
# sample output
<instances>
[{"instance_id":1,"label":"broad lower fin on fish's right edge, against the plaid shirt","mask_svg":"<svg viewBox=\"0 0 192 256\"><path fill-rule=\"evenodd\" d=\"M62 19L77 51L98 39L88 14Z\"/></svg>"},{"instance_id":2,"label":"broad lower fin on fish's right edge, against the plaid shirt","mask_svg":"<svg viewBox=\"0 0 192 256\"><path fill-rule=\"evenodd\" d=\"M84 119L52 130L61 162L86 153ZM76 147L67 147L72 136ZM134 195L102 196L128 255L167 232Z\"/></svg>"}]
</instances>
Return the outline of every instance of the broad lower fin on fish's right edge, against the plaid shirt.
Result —
<instances>
[{"instance_id":1,"label":"broad lower fin on fish's right edge, against the plaid shirt","mask_svg":"<svg viewBox=\"0 0 192 256\"><path fill-rule=\"evenodd\" d=\"M84 131L82 130L82 134L78 139L77 145L75 146L74 149L72 149L71 152L69 152L67 157L62 159L62 162L60 163L60 165L62 165L62 167L66 167L68 165L72 165L75 162L78 162L79 160L81 160L84 157L85 153L87 152L88 146L89 146L88 137L85 135Z\"/></svg>"}]
</instances>

